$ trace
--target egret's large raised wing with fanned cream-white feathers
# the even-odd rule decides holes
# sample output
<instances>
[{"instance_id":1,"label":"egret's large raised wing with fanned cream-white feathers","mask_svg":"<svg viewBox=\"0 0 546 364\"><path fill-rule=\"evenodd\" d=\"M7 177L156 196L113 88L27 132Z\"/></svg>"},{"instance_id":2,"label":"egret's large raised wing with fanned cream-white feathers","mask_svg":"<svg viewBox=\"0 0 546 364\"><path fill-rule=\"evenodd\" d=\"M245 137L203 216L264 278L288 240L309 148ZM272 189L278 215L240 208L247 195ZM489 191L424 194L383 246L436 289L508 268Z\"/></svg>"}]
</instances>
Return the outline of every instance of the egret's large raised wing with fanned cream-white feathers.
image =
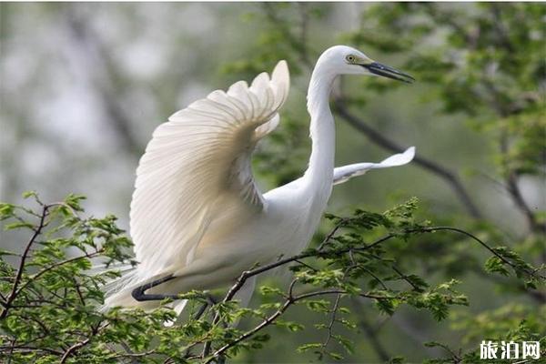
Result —
<instances>
[{"instance_id":1,"label":"egret's large raised wing with fanned cream-white feathers","mask_svg":"<svg viewBox=\"0 0 546 364\"><path fill-rule=\"evenodd\" d=\"M263 209L250 157L258 140L278 125L288 96L285 61L248 87L214 91L157 127L136 169L131 236L147 277L187 263L220 201L242 212ZM142 278L142 276L141 276Z\"/></svg>"}]
</instances>

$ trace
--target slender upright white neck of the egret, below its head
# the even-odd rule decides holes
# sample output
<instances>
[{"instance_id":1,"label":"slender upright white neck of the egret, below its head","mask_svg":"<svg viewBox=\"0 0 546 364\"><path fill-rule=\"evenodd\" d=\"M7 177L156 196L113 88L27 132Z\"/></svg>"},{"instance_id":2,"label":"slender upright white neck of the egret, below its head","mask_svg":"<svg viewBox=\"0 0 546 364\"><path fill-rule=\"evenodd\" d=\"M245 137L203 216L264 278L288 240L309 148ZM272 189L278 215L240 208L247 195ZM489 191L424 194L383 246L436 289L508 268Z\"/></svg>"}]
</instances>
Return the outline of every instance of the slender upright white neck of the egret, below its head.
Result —
<instances>
[{"instance_id":1,"label":"slender upright white neck of the egret, below its head","mask_svg":"<svg viewBox=\"0 0 546 364\"><path fill-rule=\"evenodd\" d=\"M313 71L308 88L308 112L311 116L311 157L305 173L309 197L326 207L332 189L336 130L329 108L329 95L335 79L318 65Z\"/></svg>"}]
</instances>

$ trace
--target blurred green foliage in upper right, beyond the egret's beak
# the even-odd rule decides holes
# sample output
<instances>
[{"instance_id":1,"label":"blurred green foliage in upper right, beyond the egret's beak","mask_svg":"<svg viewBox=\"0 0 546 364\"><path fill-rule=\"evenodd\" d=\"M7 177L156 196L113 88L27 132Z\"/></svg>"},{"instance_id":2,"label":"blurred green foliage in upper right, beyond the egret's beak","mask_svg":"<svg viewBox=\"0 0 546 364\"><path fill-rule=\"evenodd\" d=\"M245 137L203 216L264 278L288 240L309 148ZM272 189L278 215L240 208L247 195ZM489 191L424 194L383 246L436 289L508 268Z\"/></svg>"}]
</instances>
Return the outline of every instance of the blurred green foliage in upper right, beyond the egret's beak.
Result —
<instances>
[{"instance_id":1,"label":"blurred green foliage in upper right, beyond the egret's beak","mask_svg":"<svg viewBox=\"0 0 546 364\"><path fill-rule=\"evenodd\" d=\"M503 175L539 175L546 150L544 15L539 4L379 5L363 12L362 27L345 39L404 55L405 69L437 96L442 113L470 116L499 140Z\"/></svg>"}]
</instances>

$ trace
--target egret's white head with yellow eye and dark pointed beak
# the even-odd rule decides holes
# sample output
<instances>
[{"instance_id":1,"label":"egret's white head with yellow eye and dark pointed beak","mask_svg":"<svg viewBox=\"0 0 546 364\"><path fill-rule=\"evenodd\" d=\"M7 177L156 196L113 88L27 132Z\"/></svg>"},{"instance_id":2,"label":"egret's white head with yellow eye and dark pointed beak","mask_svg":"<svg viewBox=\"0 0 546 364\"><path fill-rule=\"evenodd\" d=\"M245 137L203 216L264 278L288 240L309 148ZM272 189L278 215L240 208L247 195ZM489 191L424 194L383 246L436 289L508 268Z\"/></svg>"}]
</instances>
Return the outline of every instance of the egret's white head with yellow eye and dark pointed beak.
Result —
<instances>
[{"instance_id":1,"label":"egret's white head with yellow eye and dark pointed beak","mask_svg":"<svg viewBox=\"0 0 546 364\"><path fill-rule=\"evenodd\" d=\"M415 80L412 76L382 65L347 45L330 47L319 57L318 63L335 75L382 76L407 83Z\"/></svg>"}]
</instances>

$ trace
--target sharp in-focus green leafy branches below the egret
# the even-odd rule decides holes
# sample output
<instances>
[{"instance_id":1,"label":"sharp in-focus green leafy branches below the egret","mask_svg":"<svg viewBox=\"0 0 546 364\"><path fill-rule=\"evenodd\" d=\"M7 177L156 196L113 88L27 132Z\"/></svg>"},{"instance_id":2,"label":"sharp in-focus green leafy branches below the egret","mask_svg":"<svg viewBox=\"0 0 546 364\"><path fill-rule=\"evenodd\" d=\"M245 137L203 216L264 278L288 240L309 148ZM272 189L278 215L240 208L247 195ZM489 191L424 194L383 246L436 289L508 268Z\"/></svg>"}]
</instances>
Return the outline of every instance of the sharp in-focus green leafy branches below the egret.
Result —
<instances>
[{"instance_id":1,"label":"sharp in-focus green leafy branches below the egret","mask_svg":"<svg viewBox=\"0 0 546 364\"><path fill-rule=\"evenodd\" d=\"M358 317L345 306L351 299L369 300L386 315L402 306L426 310L438 321L449 317L452 306L469 305L468 298L454 288L460 284L457 279L433 283L419 274L403 272L396 259L389 257L385 244L390 240L408 244L423 233L441 229L416 222L417 200L412 198L382 214L358 209L350 217L330 215L336 226L318 247L242 275L239 279L244 283L244 279L279 265L290 265L294 271L288 290L269 285L259 288L263 303L258 308L240 308L231 300L234 292L209 305L204 292L192 291L181 295L190 301L190 315L175 326L164 325L176 319L166 306L148 312L104 312L100 309L103 289L109 279L119 276L116 267L136 264L127 253L131 242L116 227L116 217L81 217L83 197L79 196L70 195L55 204L44 204L35 193L27 197L33 197L39 208L0 205L5 228L30 229L31 236L20 251L5 251L0 259L0 357L14 363L216 361L263 348L271 339L264 331L269 326L288 333L308 330L298 320L282 318L295 305L317 317L313 327L324 337L295 349L314 353L317 359L341 360L345 354L338 349L349 355L358 350L345 334L357 328ZM18 225L14 227L12 221ZM376 238L378 233L382 238ZM485 246L494 254L486 262L490 272L509 274L508 267L523 281L543 283L541 269L517 253ZM15 264L6 260L13 257ZM96 260L105 268L93 268ZM335 299L329 299L332 297ZM506 309L519 312L513 319L517 329L509 323L508 336L505 329L490 330L491 338L521 339L542 329L538 315L518 306ZM506 311L494 315L506 315ZM251 329L235 329L233 323L239 319L248 320ZM476 322L485 325L488 319L496 318L459 316L454 325L456 329L472 328L467 339L473 339L486 332L485 328L477 331ZM447 348L440 343L428 345ZM442 362L438 360L433 362Z\"/></svg>"}]
</instances>

